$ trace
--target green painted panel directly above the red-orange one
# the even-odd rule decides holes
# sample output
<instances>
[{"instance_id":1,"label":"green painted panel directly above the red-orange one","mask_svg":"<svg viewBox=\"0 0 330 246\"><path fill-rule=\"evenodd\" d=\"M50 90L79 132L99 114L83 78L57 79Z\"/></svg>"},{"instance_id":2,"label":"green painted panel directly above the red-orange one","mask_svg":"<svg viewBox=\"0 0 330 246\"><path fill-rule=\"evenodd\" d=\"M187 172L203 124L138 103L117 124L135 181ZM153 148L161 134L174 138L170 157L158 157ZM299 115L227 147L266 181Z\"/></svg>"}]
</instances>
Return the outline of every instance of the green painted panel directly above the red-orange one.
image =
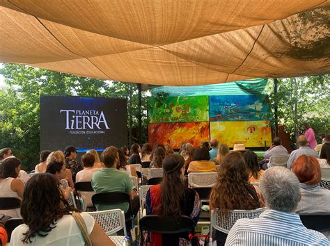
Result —
<instances>
[{"instance_id":1,"label":"green painted panel directly above the red-orange one","mask_svg":"<svg viewBox=\"0 0 330 246\"><path fill-rule=\"evenodd\" d=\"M156 122L207 122L209 120L209 99L207 96L166 97L150 99L148 112L151 123Z\"/></svg>"}]
</instances>

